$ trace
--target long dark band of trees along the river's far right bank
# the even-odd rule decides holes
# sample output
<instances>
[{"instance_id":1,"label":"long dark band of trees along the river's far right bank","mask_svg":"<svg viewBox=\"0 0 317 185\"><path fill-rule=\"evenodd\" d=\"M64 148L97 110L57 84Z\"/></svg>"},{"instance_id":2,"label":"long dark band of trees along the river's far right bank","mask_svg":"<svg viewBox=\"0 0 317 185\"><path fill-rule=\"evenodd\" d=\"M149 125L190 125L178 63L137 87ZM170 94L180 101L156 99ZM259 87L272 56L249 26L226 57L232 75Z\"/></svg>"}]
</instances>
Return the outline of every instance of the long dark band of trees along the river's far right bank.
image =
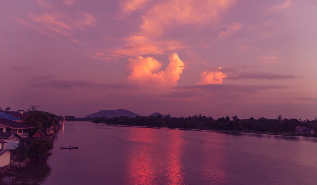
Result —
<instances>
[{"instance_id":1,"label":"long dark band of trees along the river's far right bank","mask_svg":"<svg viewBox=\"0 0 317 185\"><path fill-rule=\"evenodd\" d=\"M281 115L276 119L253 117L248 119L239 119L237 116L221 117L213 119L212 117L195 115L188 117L171 117L169 114L163 116L136 116L127 117L119 116L113 118L95 117L95 118L75 118L74 116L65 116L66 121L89 121L94 123L107 123L112 125L127 126L144 126L156 128L175 128L175 129L192 129L192 130L212 130L221 132L234 133L253 133L283 136L306 136L317 137L317 134L304 134L296 132L296 126L307 127L308 129L317 130L317 119L302 120L288 119Z\"/></svg>"}]
</instances>

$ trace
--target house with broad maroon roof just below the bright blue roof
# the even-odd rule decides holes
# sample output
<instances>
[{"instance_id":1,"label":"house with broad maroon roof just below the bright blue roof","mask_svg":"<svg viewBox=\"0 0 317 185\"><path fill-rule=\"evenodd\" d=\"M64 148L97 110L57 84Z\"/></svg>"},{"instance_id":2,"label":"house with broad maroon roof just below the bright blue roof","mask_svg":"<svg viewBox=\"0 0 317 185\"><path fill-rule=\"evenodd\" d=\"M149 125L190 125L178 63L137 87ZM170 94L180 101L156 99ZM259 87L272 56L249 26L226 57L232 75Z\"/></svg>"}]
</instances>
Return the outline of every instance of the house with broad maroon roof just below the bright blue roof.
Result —
<instances>
[{"instance_id":1,"label":"house with broad maroon roof just below the bright blue roof","mask_svg":"<svg viewBox=\"0 0 317 185\"><path fill-rule=\"evenodd\" d=\"M23 123L0 118L0 132L16 132L21 136L27 137L29 135L29 129L32 128L32 126Z\"/></svg>"}]
</instances>

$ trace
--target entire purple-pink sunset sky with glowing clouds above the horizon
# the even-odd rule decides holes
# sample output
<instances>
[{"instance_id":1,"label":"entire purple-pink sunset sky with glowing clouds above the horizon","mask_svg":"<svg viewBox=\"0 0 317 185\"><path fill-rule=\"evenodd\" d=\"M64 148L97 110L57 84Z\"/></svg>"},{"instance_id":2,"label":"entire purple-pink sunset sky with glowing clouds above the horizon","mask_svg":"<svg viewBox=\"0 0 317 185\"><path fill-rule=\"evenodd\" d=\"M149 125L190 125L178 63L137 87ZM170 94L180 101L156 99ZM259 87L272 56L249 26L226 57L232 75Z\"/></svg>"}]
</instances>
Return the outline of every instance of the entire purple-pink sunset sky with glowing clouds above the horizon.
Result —
<instances>
[{"instance_id":1,"label":"entire purple-pink sunset sky with glowing clouds above the horizon","mask_svg":"<svg viewBox=\"0 0 317 185\"><path fill-rule=\"evenodd\" d=\"M1 0L0 106L317 117L317 0Z\"/></svg>"}]
</instances>

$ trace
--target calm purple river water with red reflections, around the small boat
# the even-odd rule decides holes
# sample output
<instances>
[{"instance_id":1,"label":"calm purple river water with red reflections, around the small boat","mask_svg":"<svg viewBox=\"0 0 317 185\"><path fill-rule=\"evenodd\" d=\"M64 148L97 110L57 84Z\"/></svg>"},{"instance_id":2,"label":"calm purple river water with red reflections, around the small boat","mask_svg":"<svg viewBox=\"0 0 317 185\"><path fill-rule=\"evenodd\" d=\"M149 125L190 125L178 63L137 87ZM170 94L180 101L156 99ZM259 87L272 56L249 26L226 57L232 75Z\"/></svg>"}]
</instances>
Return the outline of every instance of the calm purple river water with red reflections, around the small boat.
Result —
<instances>
[{"instance_id":1,"label":"calm purple river water with red reflections, around the small boat","mask_svg":"<svg viewBox=\"0 0 317 185\"><path fill-rule=\"evenodd\" d=\"M59 149L59 147L79 149ZM317 139L65 122L8 184L316 184Z\"/></svg>"}]
</instances>

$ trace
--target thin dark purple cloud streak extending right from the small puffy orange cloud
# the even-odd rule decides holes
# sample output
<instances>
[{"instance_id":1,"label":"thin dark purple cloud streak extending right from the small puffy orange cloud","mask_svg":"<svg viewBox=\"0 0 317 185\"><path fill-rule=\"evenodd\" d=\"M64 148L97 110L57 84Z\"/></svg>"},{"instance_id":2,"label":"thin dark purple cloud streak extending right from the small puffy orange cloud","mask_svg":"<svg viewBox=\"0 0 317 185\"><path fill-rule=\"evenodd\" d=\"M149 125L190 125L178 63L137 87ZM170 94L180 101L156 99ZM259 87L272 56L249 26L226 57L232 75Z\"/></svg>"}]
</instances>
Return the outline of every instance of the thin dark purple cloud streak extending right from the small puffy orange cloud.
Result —
<instances>
[{"instance_id":1,"label":"thin dark purple cloud streak extending right from the small puffy orange cloud","mask_svg":"<svg viewBox=\"0 0 317 185\"><path fill-rule=\"evenodd\" d=\"M229 76L226 79L268 79L268 80L277 80L277 79L294 79L297 78L294 75L279 75L274 73L263 73L260 71L255 71L251 73L237 73L236 76Z\"/></svg>"}]
</instances>

